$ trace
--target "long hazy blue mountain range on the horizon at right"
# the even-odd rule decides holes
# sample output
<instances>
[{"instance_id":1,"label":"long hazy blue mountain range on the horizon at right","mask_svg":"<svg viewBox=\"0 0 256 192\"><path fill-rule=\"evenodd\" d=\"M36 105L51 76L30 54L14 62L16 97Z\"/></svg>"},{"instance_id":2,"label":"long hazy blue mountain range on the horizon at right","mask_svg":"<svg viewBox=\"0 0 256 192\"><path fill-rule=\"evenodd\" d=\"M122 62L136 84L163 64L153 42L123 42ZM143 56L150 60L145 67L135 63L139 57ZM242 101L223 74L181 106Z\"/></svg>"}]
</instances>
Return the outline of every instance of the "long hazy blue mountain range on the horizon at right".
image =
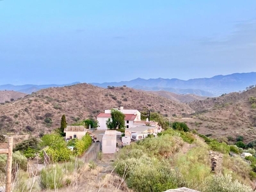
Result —
<instances>
[{"instance_id":1,"label":"long hazy blue mountain range on the horizon at right","mask_svg":"<svg viewBox=\"0 0 256 192\"><path fill-rule=\"evenodd\" d=\"M107 88L108 86L129 86L140 90L165 90L177 94L195 94L200 96L218 96L223 93L239 92L246 87L256 84L256 72L236 73L227 76L214 76L211 78L189 79L141 79L131 81L92 83L95 86Z\"/></svg>"}]
</instances>

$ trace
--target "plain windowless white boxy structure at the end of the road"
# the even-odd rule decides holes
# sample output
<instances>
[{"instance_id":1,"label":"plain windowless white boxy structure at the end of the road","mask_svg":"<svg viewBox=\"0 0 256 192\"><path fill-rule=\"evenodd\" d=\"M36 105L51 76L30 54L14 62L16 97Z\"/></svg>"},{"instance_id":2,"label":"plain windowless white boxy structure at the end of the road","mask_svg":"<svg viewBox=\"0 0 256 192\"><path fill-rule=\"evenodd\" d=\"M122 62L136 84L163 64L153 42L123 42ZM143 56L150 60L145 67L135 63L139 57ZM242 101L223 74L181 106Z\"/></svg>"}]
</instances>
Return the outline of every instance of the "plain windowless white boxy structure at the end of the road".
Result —
<instances>
[{"instance_id":1,"label":"plain windowless white boxy structure at the end of the road","mask_svg":"<svg viewBox=\"0 0 256 192\"><path fill-rule=\"evenodd\" d=\"M115 154L116 131L107 130L102 138L102 154Z\"/></svg>"}]
</instances>

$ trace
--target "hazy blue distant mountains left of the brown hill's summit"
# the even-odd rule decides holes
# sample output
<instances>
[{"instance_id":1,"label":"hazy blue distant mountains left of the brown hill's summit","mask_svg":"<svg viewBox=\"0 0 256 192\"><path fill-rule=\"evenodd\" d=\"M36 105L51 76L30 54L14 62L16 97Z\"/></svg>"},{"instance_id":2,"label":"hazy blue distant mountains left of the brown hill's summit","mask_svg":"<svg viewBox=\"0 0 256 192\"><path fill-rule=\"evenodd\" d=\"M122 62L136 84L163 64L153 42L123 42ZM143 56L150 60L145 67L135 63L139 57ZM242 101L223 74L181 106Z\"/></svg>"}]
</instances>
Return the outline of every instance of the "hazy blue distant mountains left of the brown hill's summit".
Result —
<instances>
[{"instance_id":1,"label":"hazy blue distant mountains left of the brown hill's summit","mask_svg":"<svg viewBox=\"0 0 256 192\"><path fill-rule=\"evenodd\" d=\"M0 85L0 90L10 90L10 91L16 91L16 92L31 94L32 92L37 92L38 90L42 90L42 89L45 89L45 88L62 87L62 86L68 86L68 85L73 85L73 84L77 84L77 83L79 83L79 82L70 83L70 84L41 84L41 85L36 85L36 84L24 84L24 85L3 84L3 85Z\"/></svg>"}]
</instances>

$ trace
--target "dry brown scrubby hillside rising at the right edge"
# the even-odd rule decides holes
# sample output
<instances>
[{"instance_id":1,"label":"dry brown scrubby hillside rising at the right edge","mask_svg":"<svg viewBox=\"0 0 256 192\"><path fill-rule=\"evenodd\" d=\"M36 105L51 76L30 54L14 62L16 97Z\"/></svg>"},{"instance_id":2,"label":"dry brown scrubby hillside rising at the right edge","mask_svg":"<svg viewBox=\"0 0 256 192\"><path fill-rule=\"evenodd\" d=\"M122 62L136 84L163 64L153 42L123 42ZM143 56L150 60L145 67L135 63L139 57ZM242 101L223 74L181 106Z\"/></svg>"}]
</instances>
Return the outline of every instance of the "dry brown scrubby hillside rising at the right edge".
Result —
<instances>
[{"instance_id":1,"label":"dry brown scrubby hillside rising at the right edge","mask_svg":"<svg viewBox=\"0 0 256 192\"><path fill-rule=\"evenodd\" d=\"M202 134L212 134L223 140L237 136L244 136L246 142L256 140L256 108L250 97L256 97L256 88L196 100L189 104L196 113L182 118L182 121Z\"/></svg>"}]
</instances>

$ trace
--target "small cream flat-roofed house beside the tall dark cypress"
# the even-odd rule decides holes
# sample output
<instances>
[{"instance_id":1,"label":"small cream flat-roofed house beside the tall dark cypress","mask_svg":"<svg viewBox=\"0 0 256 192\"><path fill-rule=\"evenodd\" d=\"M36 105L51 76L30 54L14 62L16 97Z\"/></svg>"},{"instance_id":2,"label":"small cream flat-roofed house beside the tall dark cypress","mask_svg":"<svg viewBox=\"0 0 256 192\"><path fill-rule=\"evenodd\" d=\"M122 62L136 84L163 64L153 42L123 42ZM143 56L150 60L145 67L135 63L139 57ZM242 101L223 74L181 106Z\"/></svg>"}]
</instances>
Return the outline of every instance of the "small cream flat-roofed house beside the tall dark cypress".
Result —
<instances>
[{"instance_id":1,"label":"small cream flat-roofed house beside the tall dark cypress","mask_svg":"<svg viewBox=\"0 0 256 192\"><path fill-rule=\"evenodd\" d=\"M67 125L67 128L64 129L66 133L66 140L77 138L81 140L86 134L87 130L83 125Z\"/></svg>"}]
</instances>

